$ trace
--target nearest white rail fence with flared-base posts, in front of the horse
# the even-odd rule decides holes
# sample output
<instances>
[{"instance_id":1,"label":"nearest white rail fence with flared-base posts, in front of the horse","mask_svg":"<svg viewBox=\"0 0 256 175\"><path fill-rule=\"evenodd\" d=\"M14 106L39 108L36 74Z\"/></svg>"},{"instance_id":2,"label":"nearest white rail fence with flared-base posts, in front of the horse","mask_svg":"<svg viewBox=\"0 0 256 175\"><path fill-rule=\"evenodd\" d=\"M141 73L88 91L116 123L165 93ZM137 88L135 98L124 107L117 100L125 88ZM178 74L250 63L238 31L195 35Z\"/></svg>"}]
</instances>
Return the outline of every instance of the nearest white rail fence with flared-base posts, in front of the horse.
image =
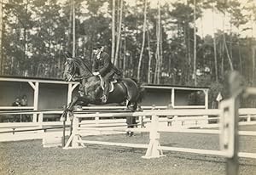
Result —
<instances>
[{"instance_id":1,"label":"nearest white rail fence with flared-base posts, in front of the horse","mask_svg":"<svg viewBox=\"0 0 256 175\"><path fill-rule=\"evenodd\" d=\"M252 113L256 113L256 110L251 110ZM247 113L246 110L239 110L241 115ZM149 132L150 142L146 147L148 150L146 155L143 158L156 158L163 155L162 150L173 150L173 151L183 151L189 153L198 153L205 155L222 155L224 157L231 156L230 152L224 150L197 150L197 149L183 149L176 147L163 147L160 146L160 132L174 132L174 133L207 133L207 134L220 134L220 138L223 139L224 135L221 135L221 131L219 130L203 130L203 129L163 129L159 128L159 116L207 116L207 115L215 115L219 116L221 114L221 110L150 110L145 112L134 112L134 113L105 113L105 114L83 114L83 113L75 113L74 121L73 121L73 134L68 139L67 144L64 149L70 148L81 148L84 147L84 144L106 144L106 145L116 145L116 146L125 146L125 147L134 147L134 148L145 148L145 144L125 144L125 143L109 143L109 142L101 142L101 141L88 141L82 140L80 133L84 128L79 128L79 119L88 118L88 117L124 117L124 116L151 116L151 127L150 128L128 128L126 131L141 131L141 132ZM96 128L94 128L96 129ZM86 129L85 129L86 130ZM102 129L104 130L104 129ZM119 129L116 129L119 130ZM256 136L256 132L245 132L241 131L241 135L250 135ZM239 153L239 156L242 157L250 157L256 158L256 154L251 153Z\"/></svg>"}]
</instances>

